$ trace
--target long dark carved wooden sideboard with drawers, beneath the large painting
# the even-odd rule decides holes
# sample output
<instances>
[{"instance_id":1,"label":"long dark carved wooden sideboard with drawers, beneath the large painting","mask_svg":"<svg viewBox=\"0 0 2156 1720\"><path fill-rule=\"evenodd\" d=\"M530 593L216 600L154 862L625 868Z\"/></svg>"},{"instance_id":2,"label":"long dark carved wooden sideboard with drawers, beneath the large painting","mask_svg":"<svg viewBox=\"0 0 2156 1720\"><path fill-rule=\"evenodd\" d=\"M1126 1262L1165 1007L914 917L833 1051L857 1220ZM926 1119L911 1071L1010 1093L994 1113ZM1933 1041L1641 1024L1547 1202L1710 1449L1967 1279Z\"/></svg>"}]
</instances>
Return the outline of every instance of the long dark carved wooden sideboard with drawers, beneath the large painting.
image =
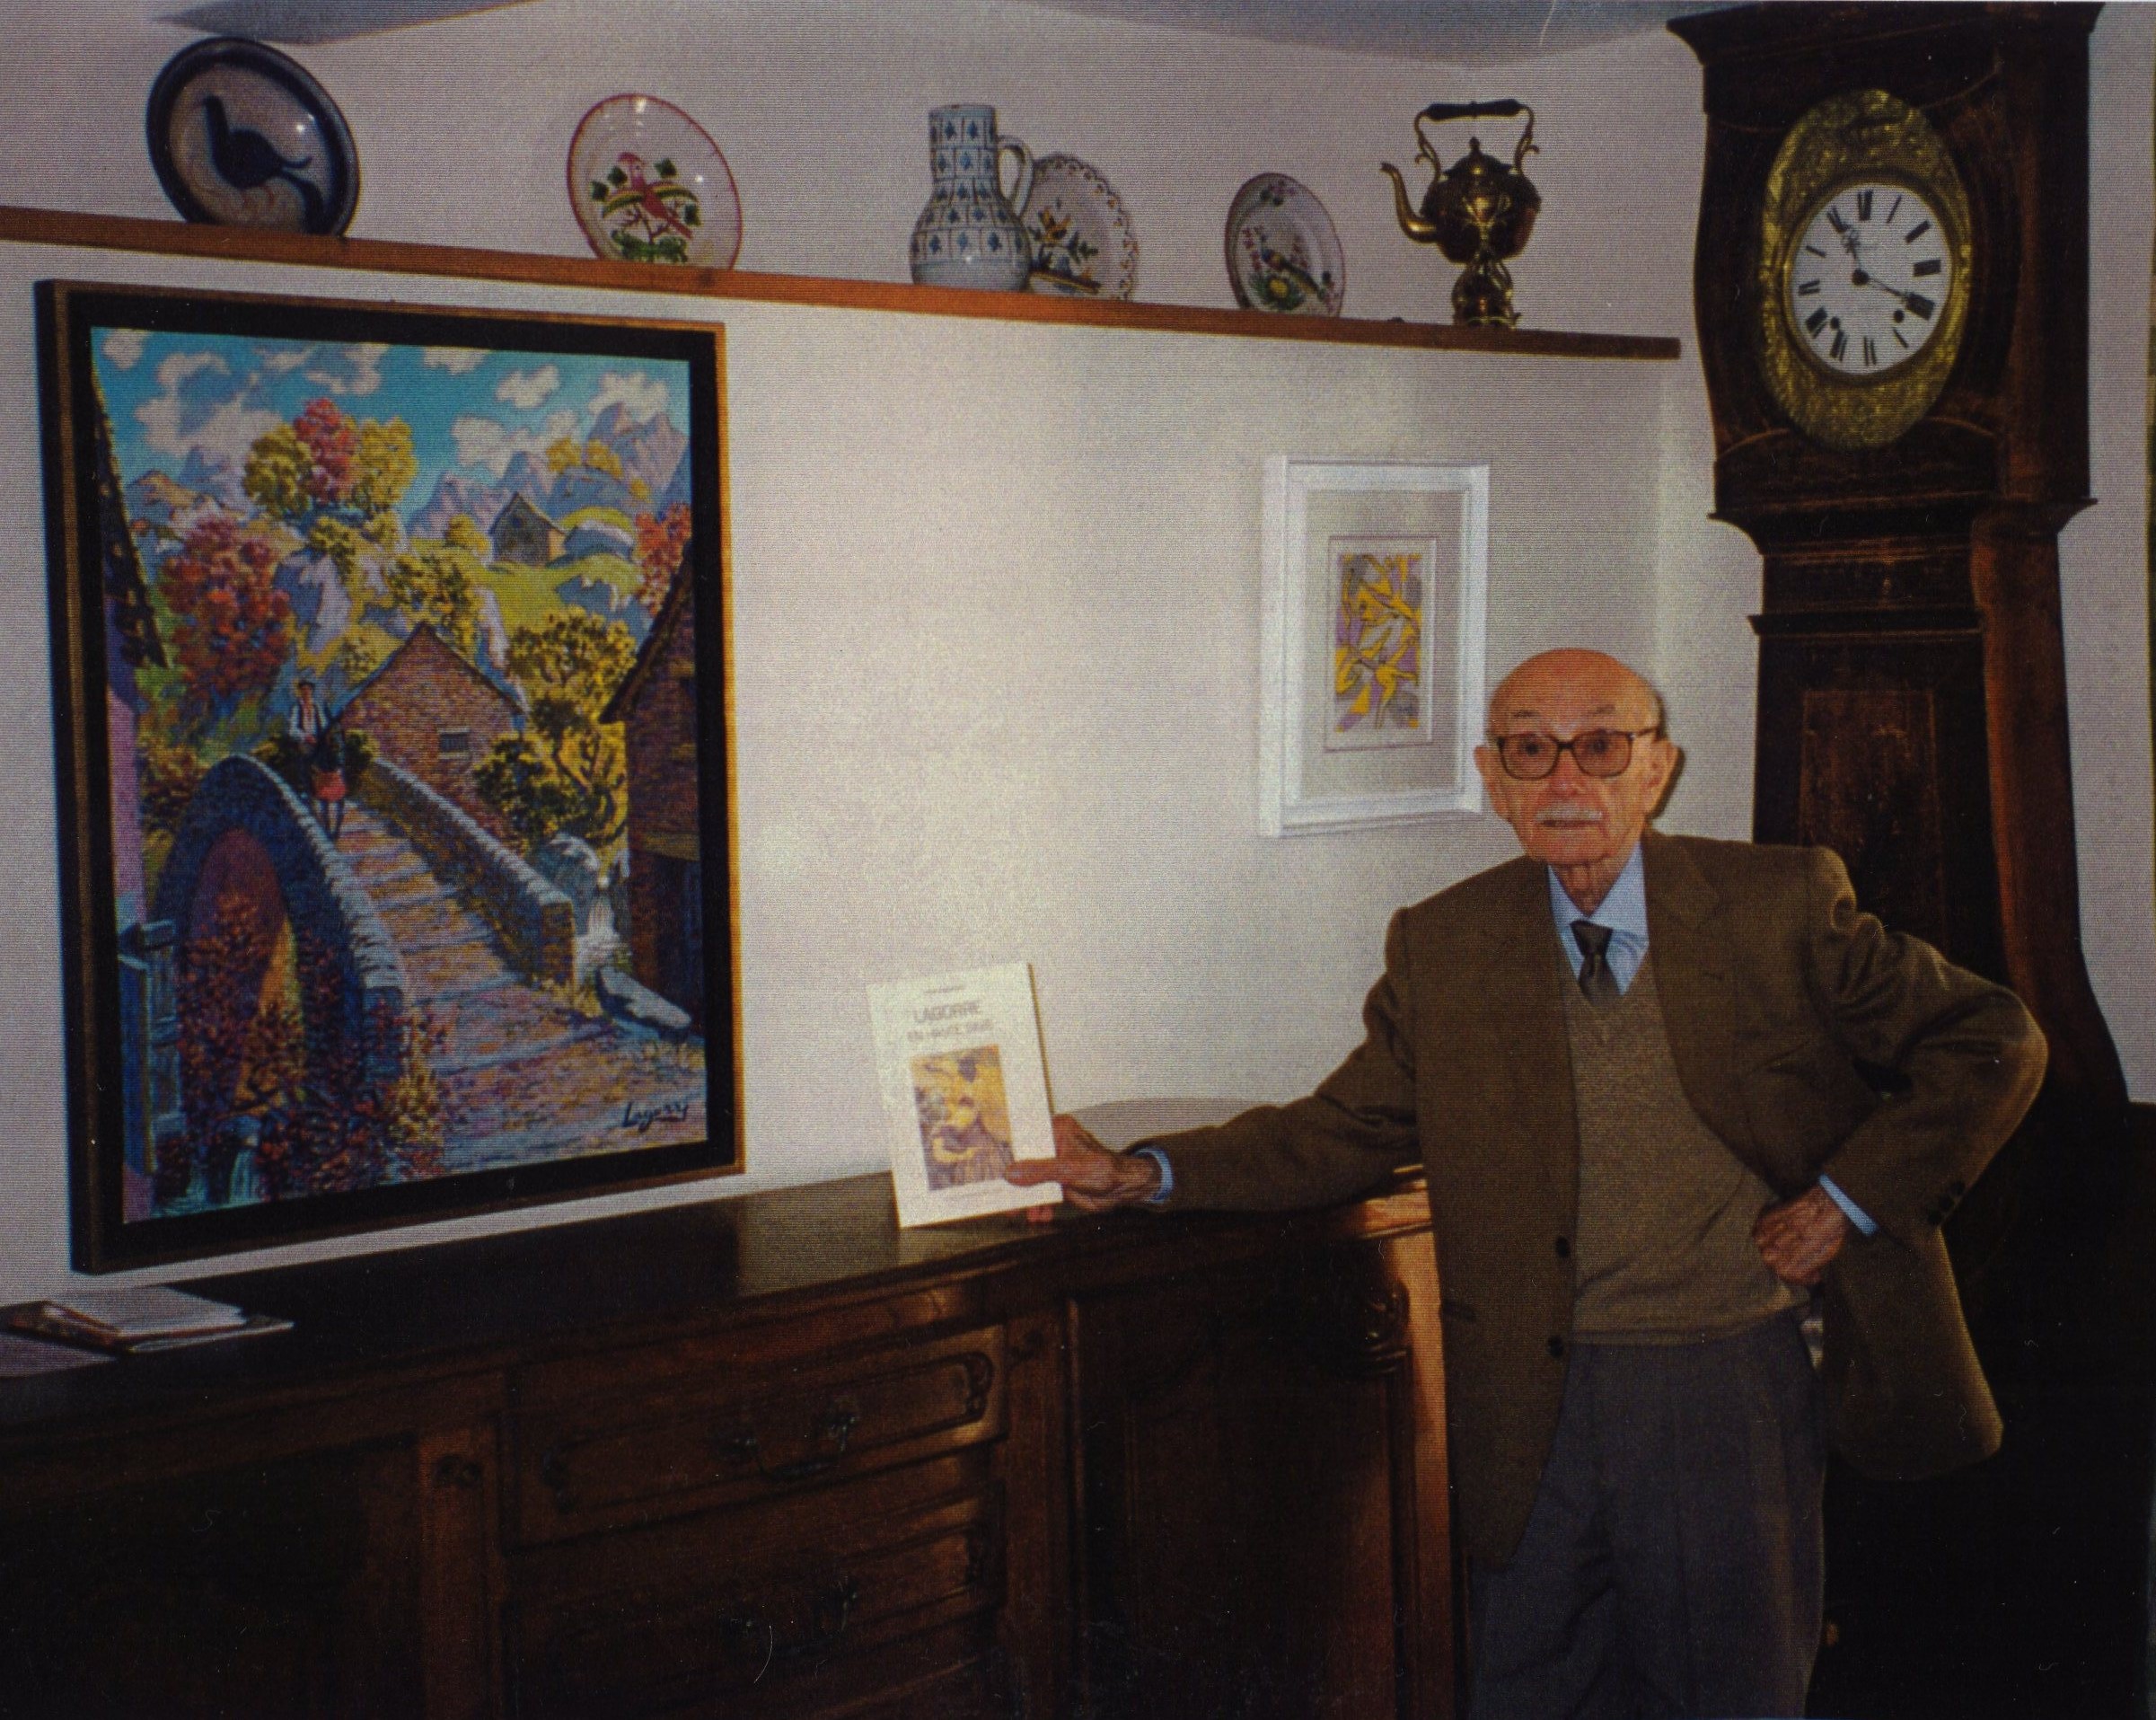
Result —
<instances>
[{"instance_id":1,"label":"long dark carved wooden sideboard with drawers, beneath the large painting","mask_svg":"<svg viewBox=\"0 0 2156 1720\"><path fill-rule=\"evenodd\" d=\"M901 1233L886 1177L194 1285L0 1382L0 1714L1453 1711L1421 1185Z\"/></svg>"}]
</instances>

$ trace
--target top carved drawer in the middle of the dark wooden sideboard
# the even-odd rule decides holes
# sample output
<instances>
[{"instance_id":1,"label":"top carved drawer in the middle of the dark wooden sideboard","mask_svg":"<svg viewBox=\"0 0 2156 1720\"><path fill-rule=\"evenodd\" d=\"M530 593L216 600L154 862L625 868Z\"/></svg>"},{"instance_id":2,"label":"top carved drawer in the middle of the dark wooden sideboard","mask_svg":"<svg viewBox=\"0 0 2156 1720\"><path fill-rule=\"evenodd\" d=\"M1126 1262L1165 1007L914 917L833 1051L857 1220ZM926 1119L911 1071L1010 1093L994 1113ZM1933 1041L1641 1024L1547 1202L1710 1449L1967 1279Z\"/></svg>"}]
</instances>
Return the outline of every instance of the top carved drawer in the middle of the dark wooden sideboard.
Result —
<instances>
[{"instance_id":1,"label":"top carved drawer in the middle of the dark wooden sideboard","mask_svg":"<svg viewBox=\"0 0 2156 1720\"><path fill-rule=\"evenodd\" d=\"M649 1382L513 1418L515 1532L552 1541L776 1498L1003 1438L1003 1328L824 1367Z\"/></svg>"}]
</instances>

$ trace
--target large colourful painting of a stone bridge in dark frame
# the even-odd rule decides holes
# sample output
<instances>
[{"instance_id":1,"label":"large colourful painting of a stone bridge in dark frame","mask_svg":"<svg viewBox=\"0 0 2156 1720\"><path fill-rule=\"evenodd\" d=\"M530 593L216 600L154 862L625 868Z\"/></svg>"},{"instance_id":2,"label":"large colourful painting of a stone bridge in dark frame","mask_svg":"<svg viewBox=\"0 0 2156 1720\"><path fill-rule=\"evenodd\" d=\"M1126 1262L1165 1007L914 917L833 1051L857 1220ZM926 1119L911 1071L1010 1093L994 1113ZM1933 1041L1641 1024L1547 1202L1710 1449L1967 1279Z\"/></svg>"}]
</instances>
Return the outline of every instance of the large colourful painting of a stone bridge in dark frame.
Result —
<instances>
[{"instance_id":1,"label":"large colourful painting of a stone bridge in dark frame","mask_svg":"<svg viewBox=\"0 0 2156 1720\"><path fill-rule=\"evenodd\" d=\"M720 332L39 338L78 1265L740 1170Z\"/></svg>"}]
</instances>

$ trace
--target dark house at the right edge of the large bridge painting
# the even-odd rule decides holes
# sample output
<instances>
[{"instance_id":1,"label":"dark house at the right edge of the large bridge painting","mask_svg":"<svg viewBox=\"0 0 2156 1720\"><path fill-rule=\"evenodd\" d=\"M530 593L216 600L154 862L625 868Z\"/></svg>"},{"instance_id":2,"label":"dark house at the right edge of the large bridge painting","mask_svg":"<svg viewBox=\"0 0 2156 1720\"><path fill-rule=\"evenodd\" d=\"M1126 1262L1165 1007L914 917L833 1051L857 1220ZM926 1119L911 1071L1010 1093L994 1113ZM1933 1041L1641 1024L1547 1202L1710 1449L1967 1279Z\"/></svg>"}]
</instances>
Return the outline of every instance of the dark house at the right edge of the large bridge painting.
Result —
<instances>
[{"instance_id":1,"label":"dark house at the right edge of the large bridge painting","mask_svg":"<svg viewBox=\"0 0 2156 1720\"><path fill-rule=\"evenodd\" d=\"M696 797L696 591L683 558L602 722L630 774L630 970L703 1032L703 845Z\"/></svg>"}]
</instances>

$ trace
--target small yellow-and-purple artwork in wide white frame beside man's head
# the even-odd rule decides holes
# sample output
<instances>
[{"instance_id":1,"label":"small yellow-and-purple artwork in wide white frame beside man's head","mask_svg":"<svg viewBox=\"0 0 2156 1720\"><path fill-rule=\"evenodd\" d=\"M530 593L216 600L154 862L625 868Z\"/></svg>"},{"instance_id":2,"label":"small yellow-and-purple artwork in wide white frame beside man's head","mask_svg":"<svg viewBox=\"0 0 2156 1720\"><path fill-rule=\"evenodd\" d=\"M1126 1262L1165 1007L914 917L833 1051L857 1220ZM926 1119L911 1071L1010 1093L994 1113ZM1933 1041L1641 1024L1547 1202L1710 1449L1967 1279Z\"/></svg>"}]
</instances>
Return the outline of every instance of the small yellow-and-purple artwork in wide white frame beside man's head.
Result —
<instances>
[{"instance_id":1,"label":"small yellow-and-purple artwork in wide white frame beside man's head","mask_svg":"<svg viewBox=\"0 0 2156 1720\"><path fill-rule=\"evenodd\" d=\"M1490 468L1266 461L1259 828L1481 806Z\"/></svg>"}]
</instances>

